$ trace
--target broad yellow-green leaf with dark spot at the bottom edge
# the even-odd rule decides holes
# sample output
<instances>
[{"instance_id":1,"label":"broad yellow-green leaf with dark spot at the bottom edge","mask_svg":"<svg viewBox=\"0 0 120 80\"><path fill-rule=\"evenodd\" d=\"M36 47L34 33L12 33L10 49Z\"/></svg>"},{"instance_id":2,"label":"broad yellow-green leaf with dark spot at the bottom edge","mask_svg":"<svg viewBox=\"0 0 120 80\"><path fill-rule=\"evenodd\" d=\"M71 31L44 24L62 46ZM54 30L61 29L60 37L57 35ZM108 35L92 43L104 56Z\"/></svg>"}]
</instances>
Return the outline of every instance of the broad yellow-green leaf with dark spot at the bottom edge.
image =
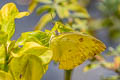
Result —
<instances>
[{"instance_id":1,"label":"broad yellow-green leaf with dark spot at the bottom edge","mask_svg":"<svg viewBox=\"0 0 120 80\"><path fill-rule=\"evenodd\" d=\"M44 74L41 60L34 55L13 58L9 66L15 80L40 80Z\"/></svg>"}]
</instances>

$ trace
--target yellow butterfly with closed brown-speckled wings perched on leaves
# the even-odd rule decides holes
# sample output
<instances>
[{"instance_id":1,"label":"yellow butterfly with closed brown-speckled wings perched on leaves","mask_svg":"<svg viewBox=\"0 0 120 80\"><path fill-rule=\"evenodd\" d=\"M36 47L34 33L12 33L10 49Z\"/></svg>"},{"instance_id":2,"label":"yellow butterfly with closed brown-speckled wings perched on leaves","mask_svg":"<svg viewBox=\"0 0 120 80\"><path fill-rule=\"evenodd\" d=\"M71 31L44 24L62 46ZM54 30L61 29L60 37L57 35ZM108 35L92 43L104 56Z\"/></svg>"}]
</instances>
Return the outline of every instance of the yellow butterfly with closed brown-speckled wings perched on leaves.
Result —
<instances>
[{"instance_id":1,"label":"yellow butterfly with closed brown-speckled wings perched on leaves","mask_svg":"<svg viewBox=\"0 0 120 80\"><path fill-rule=\"evenodd\" d=\"M59 68L70 70L85 60L100 54L106 46L100 40L80 32L61 34L50 42L53 60L59 62Z\"/></svg>"}]
</instances>

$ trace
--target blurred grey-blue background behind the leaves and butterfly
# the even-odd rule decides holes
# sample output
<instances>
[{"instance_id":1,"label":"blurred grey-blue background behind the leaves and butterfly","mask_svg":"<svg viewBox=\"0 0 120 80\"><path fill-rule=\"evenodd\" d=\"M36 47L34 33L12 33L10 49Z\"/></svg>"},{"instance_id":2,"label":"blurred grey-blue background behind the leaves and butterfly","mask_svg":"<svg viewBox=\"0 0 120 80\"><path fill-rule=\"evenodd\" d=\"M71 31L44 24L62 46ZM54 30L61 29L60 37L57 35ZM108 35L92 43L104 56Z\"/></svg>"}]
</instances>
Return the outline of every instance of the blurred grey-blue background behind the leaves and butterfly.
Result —
<instances>
[{"instance_id":1,"label":"blurred grey-blue background behind the leaves and butterfly","mask_svg":"<svg viewBox=\"0 0 120 80\"><path fill-rule=\"evenodd\" d=\"M21 0L0 0L0 7L2 7L4 4L6 4L8 2L14 2L20 11L27 11L29 3L22 2L22 1ZM26 1L29 1L29 0L26 0ZM85 0L83 0L83 1L85 1ZM83 4L86 7L88 13L90 14L90 16L93 20L98 19L98 18L101 19L103 17L103 13L98 9L100 0L89 0L89 1L90 1L89 3L81 3L81 5ZM38 6L40 6L40 5L42 5L42 4L38 4ZM111 8L112 7L113 6L111 5ZM109 10L111 10L111 8L109 8ZM37 9L37 7L36 7L36 9ZM15 31L15 35L12 39L16 40L21 35L22 32L34 30L34 26L37 24L37 22L39 21L39 19L42 16L42 15L36 14L36 9L33 11L33 13L30 16L24 17L22 19L16 19L16 31ZM94 23L97 23L97 21ZM94 24L94 25L96 25L96 24ZM52 26L53 26L52 24L48 24L47 28L50 29ZM108 31L108 28L106 28L106 27L100 28L99 30L97 30L95 35L97 36L97 38L99 38L106 44L107 48L110 46L113 48L116 48L116 46L119 44L120 38L112 40L109 37L109 31ZM108 51L108 49L103 53L103 55L107 51ZM106 58L108 61L113 60L112 57L110 57L110 58L106 57ZM83 68L88 63L90 63L90 62L86 61L85 63L83 63L82 65L80 65L79 67L74 69L73 75L72 75L72 80L101 80L102 76L116 75L116 73L114 71L107 70L100 66L97 68L94 68L88 72L83 72ZM42 80L64 80L64 71L59 70L58 65L54 64L54 62L51 62L49 65L49 69L48 69L47 73L43 76Z\"/></svg>"}]
</instances>

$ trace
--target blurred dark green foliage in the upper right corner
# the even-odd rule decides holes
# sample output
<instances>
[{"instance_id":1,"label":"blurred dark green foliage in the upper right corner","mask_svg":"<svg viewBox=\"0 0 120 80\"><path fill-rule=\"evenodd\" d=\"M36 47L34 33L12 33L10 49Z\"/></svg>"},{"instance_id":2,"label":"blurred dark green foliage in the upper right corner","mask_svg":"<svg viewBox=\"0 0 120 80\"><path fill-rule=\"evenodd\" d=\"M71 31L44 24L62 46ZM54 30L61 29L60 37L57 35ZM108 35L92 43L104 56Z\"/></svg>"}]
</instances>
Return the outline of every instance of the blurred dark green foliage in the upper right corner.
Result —
<instances>
[{"instance_id":1,"label":"blurred dark green foliage in the upper right corner","mask_svg":"<svg viewBox=\"0 0 120 80\"><path fill-rule=\"evenodd\" d=\"M101 17L93 19L90 26L94 29L106 28L112 40L120 37L120 0L100 0L97 6Z\"/></svg>"}]
</instances>

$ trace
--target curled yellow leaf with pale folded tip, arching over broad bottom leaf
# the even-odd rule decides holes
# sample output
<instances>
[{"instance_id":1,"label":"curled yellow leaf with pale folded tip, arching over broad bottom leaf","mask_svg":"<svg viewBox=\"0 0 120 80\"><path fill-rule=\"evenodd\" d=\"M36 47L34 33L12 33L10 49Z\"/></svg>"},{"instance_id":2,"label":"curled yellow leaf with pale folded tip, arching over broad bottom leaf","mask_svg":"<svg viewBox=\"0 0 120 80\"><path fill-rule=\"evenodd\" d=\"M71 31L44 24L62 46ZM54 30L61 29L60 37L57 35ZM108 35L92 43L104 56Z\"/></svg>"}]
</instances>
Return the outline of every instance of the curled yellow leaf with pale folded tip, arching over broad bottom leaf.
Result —
<instances>
[{"instance_id":1,"label":"curled yellow leaf with pale folded tip, arching over broad bottom leaf","mask_svg":"<svg viewBox=\"0 0 120 80\"><path fill-rule=\"evenodd\" d=\"M13 55L14 57L20 57L24 54L38 56L42 60L42 63L44 65L48 64L52 58L52 51L49 48L41 46L40 44L35 42L26 42L24 46L16 53L18 56Z\"/></svg>"}]
</instances>

